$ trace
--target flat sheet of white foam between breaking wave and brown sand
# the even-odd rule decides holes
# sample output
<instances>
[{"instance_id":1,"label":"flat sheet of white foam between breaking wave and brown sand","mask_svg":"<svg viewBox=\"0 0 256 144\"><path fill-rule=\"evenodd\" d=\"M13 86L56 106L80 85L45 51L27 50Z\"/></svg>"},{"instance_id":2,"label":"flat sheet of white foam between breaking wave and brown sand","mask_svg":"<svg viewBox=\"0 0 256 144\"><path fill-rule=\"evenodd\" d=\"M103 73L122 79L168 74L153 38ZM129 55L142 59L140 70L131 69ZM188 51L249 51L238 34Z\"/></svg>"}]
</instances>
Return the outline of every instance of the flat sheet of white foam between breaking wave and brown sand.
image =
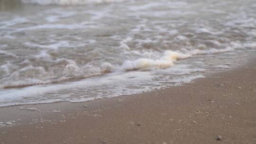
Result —
<instances>
[{"instance_id":1,"label":"flat sheet of white foam between breaking wave and brown sand","mask_svg":"<svg viewBox=\"0 0 256 144\"><path fill-rule=\"evenodd\" d=\"M188 69L185 70L188 71ZM183 70L180 69L180 71L182 72ZM202 70L193 71L198 72ZM172 81L168 80L168 77L163 77L164 80L161 81L171 81L181 84L201 77L201 75L182 76L180 79L181 81L179 81L179 79ZM52 103L57 101L82 102L93 99L117 97L126 94L130 95L167 87L166 84L160 84L159 81L151 81L154 78L155 76L148 71L115 72L110 73L103 78L96 77L55 85L35 85L24 89L0 90L0 107ZM134 87L136 84L138 88L129 88L129 84L131 84L131 87ZM75 95L75 97L73 97L73 95Z\"/></svg>"}]
</instances>

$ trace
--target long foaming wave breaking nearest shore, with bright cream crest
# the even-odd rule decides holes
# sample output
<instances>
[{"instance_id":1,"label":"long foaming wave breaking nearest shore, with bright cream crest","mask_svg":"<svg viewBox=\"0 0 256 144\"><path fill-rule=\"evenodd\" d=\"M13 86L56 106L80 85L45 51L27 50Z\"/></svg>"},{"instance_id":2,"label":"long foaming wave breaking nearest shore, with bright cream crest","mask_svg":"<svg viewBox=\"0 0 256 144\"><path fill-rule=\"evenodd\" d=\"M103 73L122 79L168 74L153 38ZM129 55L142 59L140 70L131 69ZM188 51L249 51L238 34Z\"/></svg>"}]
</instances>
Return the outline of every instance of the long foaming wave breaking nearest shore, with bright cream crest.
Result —
<instances>
[{"instance_id":1,"label":"long foaming wave breaking nearest shore, with bright cream crest","mask_svg":"<svg viewBox=\"0 0 256 144\"><path fill-rule=\"evenodd\" d=\"M162 56L153 59L155 52L150 52L151 56L148 58L138 58L135 60L124 60L123 64L114 63L87 63L79 66L74 61L68 59L58 59L51 61L51 57L44 52L41 55L36 55L37 58L49 59L52 67L48 71L44 67L28 66L18 69L15 65L7 63L0 66L0 73L3 76L8 76L0 80L0 89L13 87L26 87L36 84L50 84L61 81L68 81L73 79L84 79L95 75L101 75L109 72L132 71L132 70L152 70L165 69L174 65L174 62L182 59L192 57L194 55L210 55L218 53L226 53L235 51L240 47L254 47L256 44L238 44L230 43L224 49L211 48L208 50L194 49L186 52L166 50ZM4 53L7 54L7 53ZM7 54L11 55L11 54ZM11 55L13 56L13 55ZM55 67L58 65L59 67ZM55 68L53 68L55 67ZM58 72L58 73L56 73Z\"/></svg>"}]
</instances>

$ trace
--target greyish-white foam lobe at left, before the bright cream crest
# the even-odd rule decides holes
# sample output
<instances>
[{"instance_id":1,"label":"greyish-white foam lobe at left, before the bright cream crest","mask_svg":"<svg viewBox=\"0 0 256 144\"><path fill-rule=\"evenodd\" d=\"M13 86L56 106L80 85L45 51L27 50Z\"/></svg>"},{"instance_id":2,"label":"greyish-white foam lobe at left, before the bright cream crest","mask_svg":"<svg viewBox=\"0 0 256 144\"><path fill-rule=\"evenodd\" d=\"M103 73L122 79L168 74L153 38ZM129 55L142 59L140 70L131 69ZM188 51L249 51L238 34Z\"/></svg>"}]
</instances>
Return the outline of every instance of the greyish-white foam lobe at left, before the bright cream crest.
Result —
<instances>
[{"instance_id":1,"label":"greyish-white foam lobe at left, before the bright cream crest","mask_svg":"<svg viewBox=\"0 0 256 144\"><path fill-rule=\"evenodd\" d=\"M39 54L37 57L45 56L48 54ZM46 59L44 59L46 60ZM49 60L51 60L49 58ZM0 80L0 89L30 86L36 84L49 84L53 82L66 81L73 78L87 78L94 75L99 75L104 72L109 72L114 69L114 66L110 63L99 63L100 65L93 65L93 63L87 63L84 66L78 66L74 61L69 59L57 59L51 61L52 64L60 66L60 72L56 73L55 69L51 67L48 71L41 66L28 66L21 69L15 69L15 65L4 64L0 66L0 70L3 70L8 74L8 77ZM64 67L62 66L64 65ZM59 76L61 75L61 77Z\"/></svg>"}]
</instances>

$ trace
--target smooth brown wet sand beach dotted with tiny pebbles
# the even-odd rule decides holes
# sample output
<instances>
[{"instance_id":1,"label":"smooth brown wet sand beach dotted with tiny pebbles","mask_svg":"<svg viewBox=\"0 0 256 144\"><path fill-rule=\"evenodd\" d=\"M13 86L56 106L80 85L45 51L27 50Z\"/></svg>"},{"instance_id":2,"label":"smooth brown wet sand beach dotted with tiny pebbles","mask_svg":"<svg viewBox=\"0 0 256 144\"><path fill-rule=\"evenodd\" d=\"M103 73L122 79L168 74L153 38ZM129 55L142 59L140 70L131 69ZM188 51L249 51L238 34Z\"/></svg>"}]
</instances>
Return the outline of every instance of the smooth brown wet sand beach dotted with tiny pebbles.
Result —
<instances>
[{"instance_id":1,"label":"smooth brown wet sand beach dotted with tiny pebbles","mask_svg":"<svg viewBox=\"0 0 256 144\"><path fill-rule=\"evenodd\" d=\"M256 144L256 59L164 90L0 108L13 120L0 144Z\"/></svg>"}]
</instances>

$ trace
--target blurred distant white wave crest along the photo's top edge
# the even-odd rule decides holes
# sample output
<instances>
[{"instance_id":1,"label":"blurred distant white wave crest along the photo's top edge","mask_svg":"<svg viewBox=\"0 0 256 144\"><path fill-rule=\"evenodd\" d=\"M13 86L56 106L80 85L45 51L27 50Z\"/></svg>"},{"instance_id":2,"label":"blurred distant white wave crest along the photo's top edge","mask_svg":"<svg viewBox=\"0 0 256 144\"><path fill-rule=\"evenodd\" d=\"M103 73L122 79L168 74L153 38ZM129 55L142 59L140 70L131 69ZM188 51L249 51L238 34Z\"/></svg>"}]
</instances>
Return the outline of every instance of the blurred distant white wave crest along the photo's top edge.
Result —
<instances>
[{"instance_id":1,"label":"blurred distant white wave crest along the photo's top edge","mask_svg":"<svg viewBox=\"0 0 256 144\"><path fill-rule=\"evenodd\" d=\"M38 5L85 5L90 3L112 3L122 2L125 0L21 0L23 3L32 3Z\"/></svg>"}]
</instances>

